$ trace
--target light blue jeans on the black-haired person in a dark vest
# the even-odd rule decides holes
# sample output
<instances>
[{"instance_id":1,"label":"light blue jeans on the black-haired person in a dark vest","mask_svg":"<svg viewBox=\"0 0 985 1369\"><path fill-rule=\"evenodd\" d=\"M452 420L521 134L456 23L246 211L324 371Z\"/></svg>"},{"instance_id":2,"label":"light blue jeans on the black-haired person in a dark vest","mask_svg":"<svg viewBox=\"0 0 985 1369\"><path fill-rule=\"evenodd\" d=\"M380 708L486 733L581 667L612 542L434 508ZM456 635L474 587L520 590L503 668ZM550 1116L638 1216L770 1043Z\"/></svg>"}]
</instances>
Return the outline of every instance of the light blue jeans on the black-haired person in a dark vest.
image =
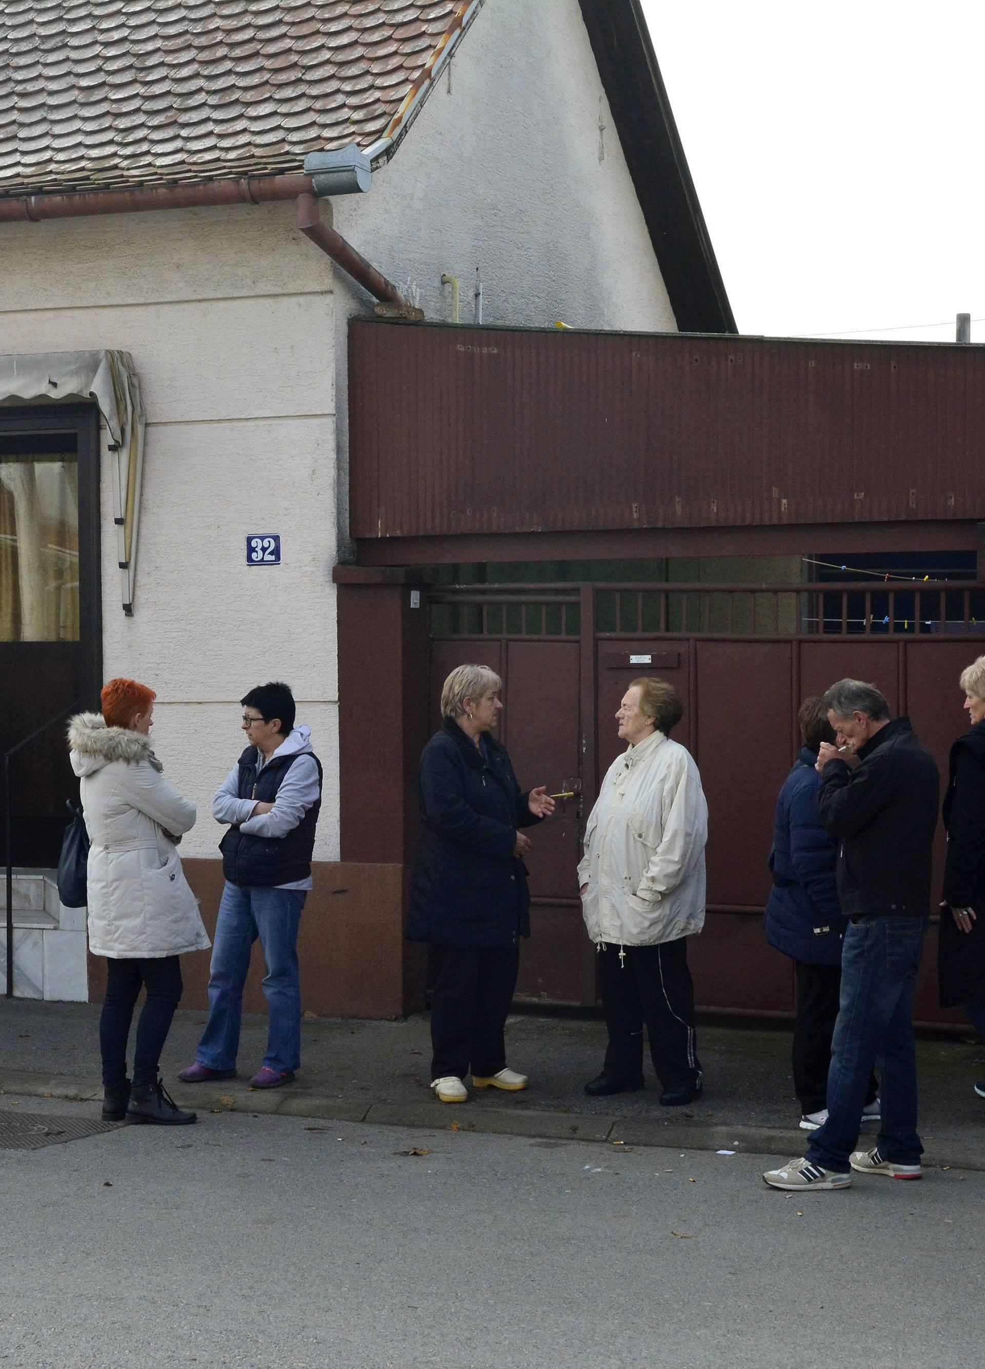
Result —
<instances>
[{"instance_id":1,"label":"light blue jeans on the black-haired person in a dark vest","mask_svg":"<svg viewBox=\"0 0 985 1369\"><path fill-rule=\"evenodd\" d=\"M222 894L208 980L208 1025L196 1060L207 1069L234 1069L240 1049L242 987L249 953L260 938L267 975L262 988L270 1027L263 1064L278 1073L301 1064L301 990L297 979L297 927L307 894L297 888L242 888Z\"/></svg>"}]
</instances>

